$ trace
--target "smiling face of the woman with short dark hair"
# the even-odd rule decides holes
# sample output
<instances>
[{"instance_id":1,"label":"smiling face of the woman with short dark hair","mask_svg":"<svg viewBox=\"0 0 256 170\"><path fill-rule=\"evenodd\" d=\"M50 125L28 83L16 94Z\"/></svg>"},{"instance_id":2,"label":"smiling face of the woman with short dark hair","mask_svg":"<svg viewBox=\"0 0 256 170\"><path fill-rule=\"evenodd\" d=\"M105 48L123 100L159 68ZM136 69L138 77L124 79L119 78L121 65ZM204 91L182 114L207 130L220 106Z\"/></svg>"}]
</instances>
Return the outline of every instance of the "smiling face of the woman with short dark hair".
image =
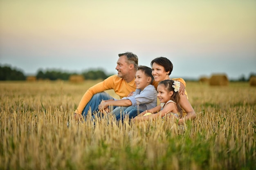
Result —
<instances>
[{"instance_id":1,"label":"smiling face of the woman with short dark hair","mask_svg":"<svg viewBox=\"0 0 256 170\"><path fill-rule=\"evenodd\" d=\"M170 79L168 73L169 72L166 72L163 66L156 64L155 62L152 64L152 75L154 76L156 82Z\"/></svg>"}]
</instances>

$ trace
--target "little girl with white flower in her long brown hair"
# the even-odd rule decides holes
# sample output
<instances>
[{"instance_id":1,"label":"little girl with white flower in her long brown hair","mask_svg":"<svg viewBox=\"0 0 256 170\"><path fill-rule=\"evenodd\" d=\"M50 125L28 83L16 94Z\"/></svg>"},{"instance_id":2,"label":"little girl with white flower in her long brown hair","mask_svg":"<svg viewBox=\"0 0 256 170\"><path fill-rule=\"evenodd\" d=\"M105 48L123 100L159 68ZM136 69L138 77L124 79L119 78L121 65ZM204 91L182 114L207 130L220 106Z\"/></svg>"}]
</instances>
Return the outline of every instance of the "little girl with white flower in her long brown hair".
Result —
<instances>
[{"instance_id":1,"label":"little girl with white flower in her long brown hair","mask_svg":"<svg viewBox=\"0 0 256 170\"><path fill-rule=\"evenodd\" d=\"M160 105L145 110L137 117L133 118L134 121L146 121L156 119L157 117L164 117L165 115L174 115L175 117L182 117L182 109L180 107L180 82L166 79L159 82L157 86L157 97ZM153 113L153 114L151 114Z\"/></svg>"}]
</instances>

